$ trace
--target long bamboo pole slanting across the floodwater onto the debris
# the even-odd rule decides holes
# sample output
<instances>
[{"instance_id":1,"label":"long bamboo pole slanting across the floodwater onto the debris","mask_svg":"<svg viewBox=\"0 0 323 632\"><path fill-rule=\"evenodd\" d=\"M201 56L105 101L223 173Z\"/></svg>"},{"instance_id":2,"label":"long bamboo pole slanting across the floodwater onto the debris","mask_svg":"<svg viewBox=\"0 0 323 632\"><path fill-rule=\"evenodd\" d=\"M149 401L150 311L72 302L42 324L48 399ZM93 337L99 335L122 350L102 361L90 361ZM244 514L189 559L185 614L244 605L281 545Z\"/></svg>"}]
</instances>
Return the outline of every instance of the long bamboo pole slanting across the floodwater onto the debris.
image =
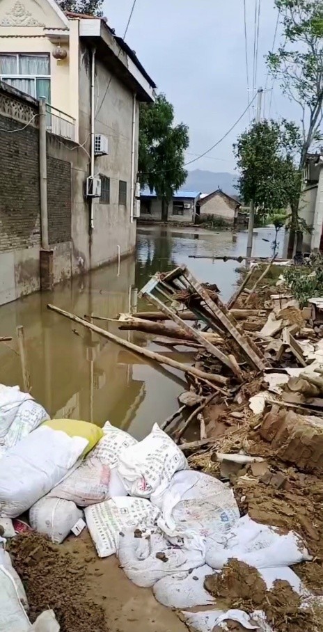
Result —
<instances>
[{"instance_id":1,"label":"long bamboo pole slanting across the floodwater onto the debris","mask_svg":"<svg viewBox=\"0 0 323 632\"><path fill-rule=\"evenodd\" d=\"M208 382L212 382L213 388L215 388L214 383L222 384L224 386L228 384L229 380L227 377L223 377L222 375L216 375L214 373L206 373L204 371L200 371L200 369L197 369L196 367L188 367L187 365L184 365L181 362L177 362L173 360L172 358L166 358L165 356L161 356L160 354L155 353L155 351L150 351L149 349L143 349L139 347L138 345L134 345L133 342L128 342L127 340L123 340L123 338L119 338L118 335L114 335L110 331L101 329L101 327L97 327L96 325L93 325L87 320L84 320L84 318L80 318L79 316L75 316L74 314L71 314L70 312L61 310L61 308L56 307L54 305L49 304L47 305L47 308L49 310L52 310L53 312L56 312L57 314L61 314L61 316L65 316L66 318L69 318L70 320L74 322L78 322L80 325L83 325L84 327L86 327L87 329L90 329L91 331L95 331L95 333L98 333L104 336L104 338L107 338L108 340L112 340L113 342L116 342L116 344L120 345L121 347L125 347L126 349L130 349L131 351L135 351L137 354L141 356L145 356L146 358L149 358L150 360L155 360L157 362L160 362L161 364L167 364L168 366L171 366L173 369L178 369L179 371L182 371L184 373L191 373L193 375L196 375L196 377L199 377L200 379L205 379Z\"/></svg>"}]
</instances>

